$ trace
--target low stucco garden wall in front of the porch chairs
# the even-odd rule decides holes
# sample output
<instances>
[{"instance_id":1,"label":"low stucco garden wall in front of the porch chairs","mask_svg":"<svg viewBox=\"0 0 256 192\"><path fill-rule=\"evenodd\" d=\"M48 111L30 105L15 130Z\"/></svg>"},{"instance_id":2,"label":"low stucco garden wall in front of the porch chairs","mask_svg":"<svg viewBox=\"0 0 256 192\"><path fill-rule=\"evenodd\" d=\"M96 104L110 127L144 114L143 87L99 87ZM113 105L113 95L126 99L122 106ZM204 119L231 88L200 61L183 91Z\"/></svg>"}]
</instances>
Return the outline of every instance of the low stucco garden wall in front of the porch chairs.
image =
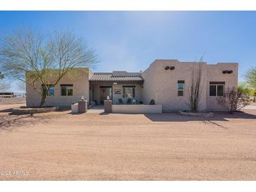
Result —
<instances>
[{"instance_id":1,"label":"low stucco garden wall in front of the porch chairs","mask_svg":"<svg viewBox=\"0 0 256 192\"><path fill-rule=\"evenodd\" d=\"M113 104L112 113L114 114L161 114L161 104Z\"/></svg>"}]
</instances>

